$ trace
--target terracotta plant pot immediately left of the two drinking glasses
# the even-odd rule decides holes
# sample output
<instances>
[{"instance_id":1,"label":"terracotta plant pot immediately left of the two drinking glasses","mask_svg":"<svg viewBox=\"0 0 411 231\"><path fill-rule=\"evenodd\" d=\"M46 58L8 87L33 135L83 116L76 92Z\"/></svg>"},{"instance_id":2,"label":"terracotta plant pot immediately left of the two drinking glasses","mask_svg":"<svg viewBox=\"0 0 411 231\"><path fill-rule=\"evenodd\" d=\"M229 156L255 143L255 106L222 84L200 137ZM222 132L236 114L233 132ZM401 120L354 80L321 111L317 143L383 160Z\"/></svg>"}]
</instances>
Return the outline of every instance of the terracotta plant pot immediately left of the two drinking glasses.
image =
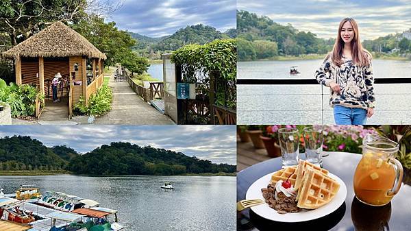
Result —
<instances>
[{"instance_id":1,"label":"terracotta plant pot immediately left of the two drinking glasses","mask_svg":"<svg viewBox=\"0 0 411 231\"><path fill-rule=\"evenodd\" d=\"M264 143L264 147L267 150L267 154L270 157L281 156L281 149L278 145L278 129L281 125L265 125L262 130L260 138Z\"/></svg>"}]
</instances>

